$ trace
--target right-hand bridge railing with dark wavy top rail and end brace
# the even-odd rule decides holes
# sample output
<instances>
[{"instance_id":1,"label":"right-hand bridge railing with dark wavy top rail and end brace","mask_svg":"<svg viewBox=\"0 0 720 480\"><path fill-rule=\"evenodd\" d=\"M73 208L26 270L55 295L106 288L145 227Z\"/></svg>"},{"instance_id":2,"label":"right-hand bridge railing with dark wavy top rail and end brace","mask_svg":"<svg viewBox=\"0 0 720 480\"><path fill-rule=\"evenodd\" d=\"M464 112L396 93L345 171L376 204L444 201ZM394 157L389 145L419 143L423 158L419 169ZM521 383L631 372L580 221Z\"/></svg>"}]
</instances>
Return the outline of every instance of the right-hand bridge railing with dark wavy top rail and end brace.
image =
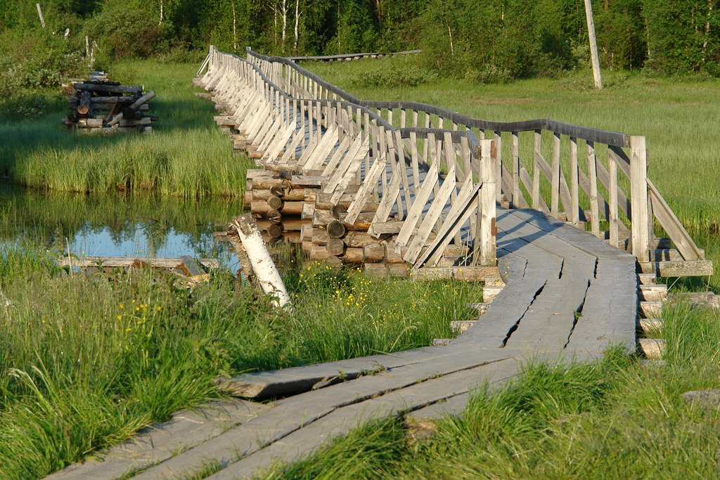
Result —
<instances>
[{"instance_id":1,"label":"right-hand bridge railing with dark wavy top rail and end brace","mask_svg":"<svg viewBox=\"0 0 720 480\"><path fill-rule=\"evenodd\" d=\"M685 261L700 261L698 249L660 192L647 177L645 137L610 132L553 119L490 122L410 101L366 101L280 57L247 50L248 62L294 98L342 100L374 110L387 124L473 132L495 140L498 201L531 207L627 245L640 262L655 260L654 227L661 227ZM503 140L510 143L503 155ZM549 160L544 143L552 141ZM410 141L412 146L412 140ZM585 150L584 155L578 154ZM618 174L619 170L619 174ZM656 223L657 222L657 223ZM602 231L601 229L605 229Z\"/></svg>"}]
</instances>

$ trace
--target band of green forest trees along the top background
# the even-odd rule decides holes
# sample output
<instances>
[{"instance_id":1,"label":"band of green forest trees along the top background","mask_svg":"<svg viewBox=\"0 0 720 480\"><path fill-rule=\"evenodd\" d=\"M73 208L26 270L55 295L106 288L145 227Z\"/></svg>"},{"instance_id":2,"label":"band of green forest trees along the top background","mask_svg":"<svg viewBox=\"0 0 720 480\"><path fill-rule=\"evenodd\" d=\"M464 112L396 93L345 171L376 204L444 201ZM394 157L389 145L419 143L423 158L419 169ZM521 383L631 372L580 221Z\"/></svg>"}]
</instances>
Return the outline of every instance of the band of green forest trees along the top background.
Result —
<instances>
[{"instance_id":1,"label":"band of green forest trees along the top background","mask_svg":"<svg viewBox=\"0 0 720 480\"><path fill-rule=\"evenodd\" d=\"M478 83L587 68L582 0L0 0L0 98L124 58L201 61L207 45L274 55L423 50L431 76ZM593 1L604 68L720 76L718 0ZM87 38L87 42L86 42ZM94 59L89 65L89 57ZM37 105L34 103L37 102ZM1 107L1 105L0 105Z\"/></svg>"}]
</instances>

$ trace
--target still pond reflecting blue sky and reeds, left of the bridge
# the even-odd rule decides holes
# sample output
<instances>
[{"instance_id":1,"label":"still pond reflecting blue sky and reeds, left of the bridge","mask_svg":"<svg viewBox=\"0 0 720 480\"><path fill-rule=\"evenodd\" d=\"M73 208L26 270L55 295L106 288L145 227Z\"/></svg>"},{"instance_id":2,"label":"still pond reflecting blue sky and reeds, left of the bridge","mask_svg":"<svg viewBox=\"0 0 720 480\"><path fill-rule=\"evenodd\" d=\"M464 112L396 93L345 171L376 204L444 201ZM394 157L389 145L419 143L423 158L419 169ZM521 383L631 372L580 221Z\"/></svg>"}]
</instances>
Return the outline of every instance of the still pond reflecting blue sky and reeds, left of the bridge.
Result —
<instances>
[{"instance_id":1,"label":"still pond reflecting blue sky and reeds, left of the bridge","mask_svg":"<svg viewBox=\"0 0 720 480\"><path fill-rule=\"evenodd\" d=\"M238 269L224 230L240 199L179 199L150 194L66 194L0 181L0 237L73 255L217 258Z\"/></svg>"}]
</instances>

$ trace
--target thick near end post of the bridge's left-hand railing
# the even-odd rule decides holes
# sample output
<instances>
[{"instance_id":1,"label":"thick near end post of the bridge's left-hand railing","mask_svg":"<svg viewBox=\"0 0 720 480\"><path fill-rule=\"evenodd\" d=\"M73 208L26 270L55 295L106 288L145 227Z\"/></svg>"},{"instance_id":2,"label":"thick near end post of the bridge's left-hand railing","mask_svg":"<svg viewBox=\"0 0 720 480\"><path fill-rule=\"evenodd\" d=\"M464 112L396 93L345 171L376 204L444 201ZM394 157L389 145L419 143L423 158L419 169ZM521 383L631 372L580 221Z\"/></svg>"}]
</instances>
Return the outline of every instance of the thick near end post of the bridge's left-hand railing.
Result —
<instances>
[{"instance_id":1,"label":"thick near end post of the bridge's left-hand railing","mask_svg":"<svg viewBox=\"0 0 720 480\"><path fill-rule=\"evenodd\" d=\"M480 265L495 266L498 258L495 253L495 193L497 191L497 169L495 158L498 157L495 140L480 141Z\"/></svg>"}]
</instances>

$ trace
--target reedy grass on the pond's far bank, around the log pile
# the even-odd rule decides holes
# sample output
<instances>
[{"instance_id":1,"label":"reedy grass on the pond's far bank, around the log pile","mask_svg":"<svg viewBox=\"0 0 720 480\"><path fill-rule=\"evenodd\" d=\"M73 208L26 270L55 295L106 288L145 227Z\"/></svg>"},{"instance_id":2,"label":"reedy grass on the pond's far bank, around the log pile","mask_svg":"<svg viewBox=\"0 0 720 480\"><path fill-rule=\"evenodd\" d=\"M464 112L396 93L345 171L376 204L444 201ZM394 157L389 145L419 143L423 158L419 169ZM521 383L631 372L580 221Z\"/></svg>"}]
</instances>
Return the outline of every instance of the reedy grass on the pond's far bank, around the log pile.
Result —
<instances>
[{"instance_id":1,"label":"reedy grass on the pond's far bank, around the log pile","mask_svg":"<svg viewBox=\"0 0 720 480\"><path fill-rule=\"evenodd\" d=\"M241 196L244 156L212 121L215 110L194 98L197 65L154 61L114 65L111 78L156 91L150 102L150 135L83 135L67 132L67 107L55 101L40 119L11 122L0 115L0 168L19 184L58 191L158 191L163 195Z\"/></svg>"}]
</instances>

